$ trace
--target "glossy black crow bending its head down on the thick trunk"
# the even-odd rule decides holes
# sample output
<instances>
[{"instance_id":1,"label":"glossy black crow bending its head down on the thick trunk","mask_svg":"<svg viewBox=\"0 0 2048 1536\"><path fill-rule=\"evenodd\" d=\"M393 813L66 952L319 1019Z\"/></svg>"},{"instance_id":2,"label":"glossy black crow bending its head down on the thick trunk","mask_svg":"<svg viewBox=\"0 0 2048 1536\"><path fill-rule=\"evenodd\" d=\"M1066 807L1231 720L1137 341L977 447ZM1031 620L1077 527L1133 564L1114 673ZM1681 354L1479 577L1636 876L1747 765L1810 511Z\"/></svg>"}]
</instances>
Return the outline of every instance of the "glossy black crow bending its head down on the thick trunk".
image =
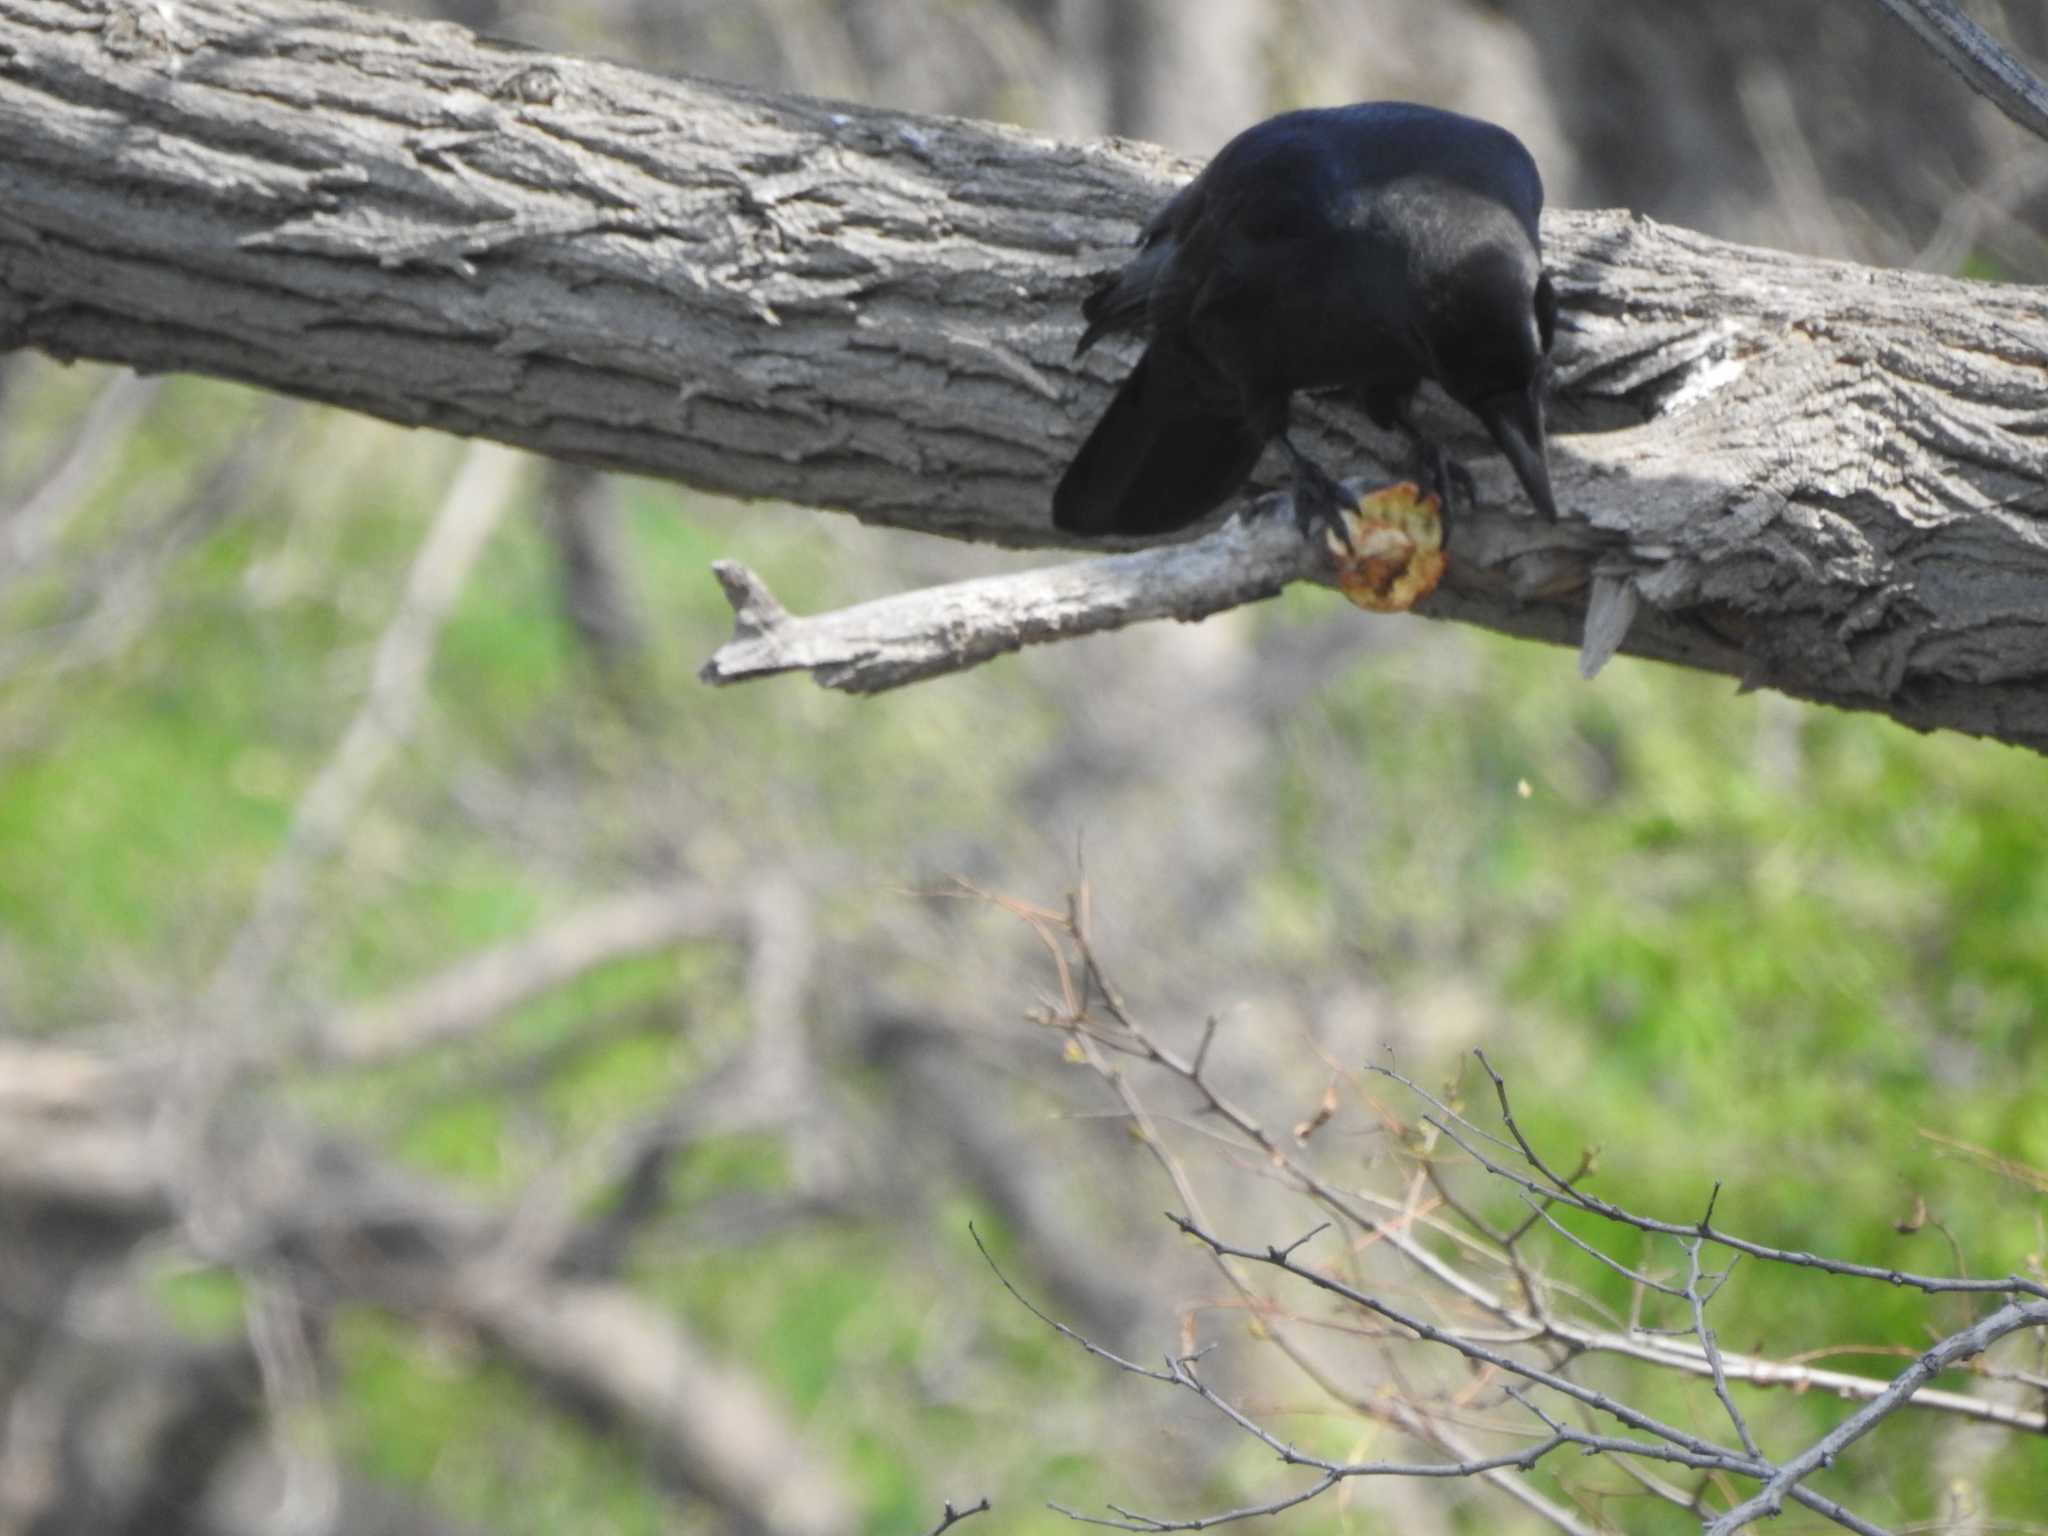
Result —
<instances>
[{"instance_id":1,"label":"glossy black crow bending its head down on the thick trunk","mask_svg":"<svg viewBox=\"0 0 2048 1536\"><path fill-rule=\"evenodd\" d=\"M1110 332L1151 344L1061 477L1053 522L1077 535L1188 526L1276 436L1296 512L1331 516L1329 477L1286 440L1303 389L1343 391L1399 426L1442 481L1454 467L1409 420L1423 379L1485 424L1554 518L1542 389L1556 299L1540 211L1522 141L1456 113L1366 102L1245 129L1081 305L1075 354Z\"/></svg>"}]
</instances>

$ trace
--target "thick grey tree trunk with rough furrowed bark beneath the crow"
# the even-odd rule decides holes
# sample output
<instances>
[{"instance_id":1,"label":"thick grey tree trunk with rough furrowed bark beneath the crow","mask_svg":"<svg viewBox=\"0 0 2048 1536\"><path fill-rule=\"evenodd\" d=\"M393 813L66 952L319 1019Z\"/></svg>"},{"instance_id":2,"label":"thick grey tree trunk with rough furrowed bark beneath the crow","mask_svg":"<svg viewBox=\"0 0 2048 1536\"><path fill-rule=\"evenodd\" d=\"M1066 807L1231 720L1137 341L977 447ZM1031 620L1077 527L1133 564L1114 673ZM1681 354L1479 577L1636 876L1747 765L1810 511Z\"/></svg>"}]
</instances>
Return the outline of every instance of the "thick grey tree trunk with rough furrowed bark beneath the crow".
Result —
<instances>
[{"instance_id":1,"label":"thick grey tree trunk with rough furrowed bark beneath the crow","mask_svg":"<svg viewBox=\"0 0 2048 1536\"><path fill-rule=\"evenodd\" d=\"M1188 170L346 6L0 0L0 346L1051 545L1126 365L1069 362L1079 295ZM1624 651L2048 745L2048 303L1626 213L1544 233L1579 526L1466 438L1423 612L1579 643L1606 590Z\"/></svg>"}]
</instances>

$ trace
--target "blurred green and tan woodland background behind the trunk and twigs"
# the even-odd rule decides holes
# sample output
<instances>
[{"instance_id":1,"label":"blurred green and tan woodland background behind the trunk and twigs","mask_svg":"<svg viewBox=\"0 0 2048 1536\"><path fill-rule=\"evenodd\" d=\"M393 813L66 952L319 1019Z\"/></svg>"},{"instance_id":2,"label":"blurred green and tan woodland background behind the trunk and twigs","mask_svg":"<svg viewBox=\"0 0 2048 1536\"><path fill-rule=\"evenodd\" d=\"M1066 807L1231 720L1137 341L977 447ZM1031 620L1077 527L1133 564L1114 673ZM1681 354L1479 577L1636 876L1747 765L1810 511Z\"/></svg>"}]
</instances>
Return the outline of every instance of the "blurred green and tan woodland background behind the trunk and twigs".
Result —
<instances>
[{"instance_id":1,"label":"blurred green and tan woodland background behind the trunk and twigs","mask_svg":"<svg viewBox=\"0 0 2048 1536\"><path fill-rule=\"evenodd\" d=\"M2048 6L1970 10L2048 57ZM2048 279L2048 147L1876 4L438 14L1190 156L1284 106L1430 100L1513 127L1552 205ZM1083 881L1133 1014L1182 1049L1214 1018L1212 1071L1274 1128L1327 1104L1303 1155L1331 1178L1415 1176L1417 1106L1366 1061L1477 1112L1485 1047L1614 1200L1690 1221L1720 1182L1761 1241L2040 1270L2038 756L1628 659L1583 684L1321 592L874 700L713 692L717 557L799 610L1020 561L0 358L0 1532L881 1536L983 1495L971 1530L1044 1532L1047 1499L1288 1487L1032 1319L969 1221L1102 1343L1217 1339L1282 1434L1419 1456L1264 1360L1159 1221L1128 1106L1032 1022L1057 969L1006 903ZM1227 1235L1313 1225L1184 1085L1139 1087ZM1628 1313L1622 1276L1542 1262ZM1716 1303L1731 1348L1878 1376L1970 1315L1761 1266ZM2030 1348L1946 1384L2038 1409ZM1350 1389L1423 1391L1382 1364ZM1704 1386L1602 1380L1726 1434ZM1778 1452L1843 1413L1743 1401ZM1530 1483L1581 1530L1698 1530L1579 1456ZM1829 1489L1901 1530L2048 1530L2042 1442L1960 1417L1894 1419ZM1282 1520L1559 1528L1464 1483Z\"/></svg>"}]
</instances>

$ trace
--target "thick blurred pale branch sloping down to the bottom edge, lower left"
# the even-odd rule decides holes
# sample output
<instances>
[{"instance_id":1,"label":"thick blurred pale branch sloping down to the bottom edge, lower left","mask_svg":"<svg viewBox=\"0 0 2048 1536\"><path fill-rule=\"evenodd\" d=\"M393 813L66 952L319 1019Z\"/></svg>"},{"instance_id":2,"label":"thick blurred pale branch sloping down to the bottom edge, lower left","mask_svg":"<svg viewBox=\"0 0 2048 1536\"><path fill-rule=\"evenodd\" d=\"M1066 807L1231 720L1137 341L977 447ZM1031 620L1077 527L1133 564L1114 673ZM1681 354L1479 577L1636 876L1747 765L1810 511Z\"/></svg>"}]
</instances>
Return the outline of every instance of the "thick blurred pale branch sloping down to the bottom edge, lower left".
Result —
<instances>
[{"instance_id":1,"label":"thick blurred pale branch sloping down to the bottom edge, lower left","mask_svg":"<svg viewBox=\"0 0 2048 1536\"><path fill-rule=\"evenodd\" d=\"M289 1276L328 1307L354 1300L465 1327L735 1522L766 1536L850 1530L846 1491L774 1399L670 1311L532 1262L504 1241L498 1212L254 1108L223 1128L231 1145L203 1167L166 1159L147 1096L94 1102L90 1075L66 1057L49 1071L31 1065L57 1090L61 1112L0 1102L0 1206L113 1221L133 1243L178 1225L199 1198L186 1180L205 1178L213 1188L203 1204L215 1214L207 1235L219 1243L199 1249L205 1262Z\"/></svg>"}]
</instances>

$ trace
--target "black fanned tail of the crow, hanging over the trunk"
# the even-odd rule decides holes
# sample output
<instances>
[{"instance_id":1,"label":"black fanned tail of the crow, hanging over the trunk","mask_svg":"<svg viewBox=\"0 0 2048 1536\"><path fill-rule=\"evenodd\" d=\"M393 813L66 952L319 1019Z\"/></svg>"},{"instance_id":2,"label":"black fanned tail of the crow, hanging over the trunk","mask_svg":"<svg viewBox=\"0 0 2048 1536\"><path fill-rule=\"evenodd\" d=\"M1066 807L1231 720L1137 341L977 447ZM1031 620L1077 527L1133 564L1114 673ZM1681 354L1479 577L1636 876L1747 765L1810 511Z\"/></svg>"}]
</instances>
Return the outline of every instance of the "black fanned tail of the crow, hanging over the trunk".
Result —
<instances>
[{"instance_id":1,"label":"black fanned tail of the crow, hanging over the trunk","mask_svg":"<svg viewBox=\"0 0 2048 1536\"><path fill-rule=\"evenodd\" d=\"M1245 483L1266 434L1174 387L1153 350L1124 379L1053 492L1053 524L1079 535L1186 528Z\"/></svg>"}]
</instances>

